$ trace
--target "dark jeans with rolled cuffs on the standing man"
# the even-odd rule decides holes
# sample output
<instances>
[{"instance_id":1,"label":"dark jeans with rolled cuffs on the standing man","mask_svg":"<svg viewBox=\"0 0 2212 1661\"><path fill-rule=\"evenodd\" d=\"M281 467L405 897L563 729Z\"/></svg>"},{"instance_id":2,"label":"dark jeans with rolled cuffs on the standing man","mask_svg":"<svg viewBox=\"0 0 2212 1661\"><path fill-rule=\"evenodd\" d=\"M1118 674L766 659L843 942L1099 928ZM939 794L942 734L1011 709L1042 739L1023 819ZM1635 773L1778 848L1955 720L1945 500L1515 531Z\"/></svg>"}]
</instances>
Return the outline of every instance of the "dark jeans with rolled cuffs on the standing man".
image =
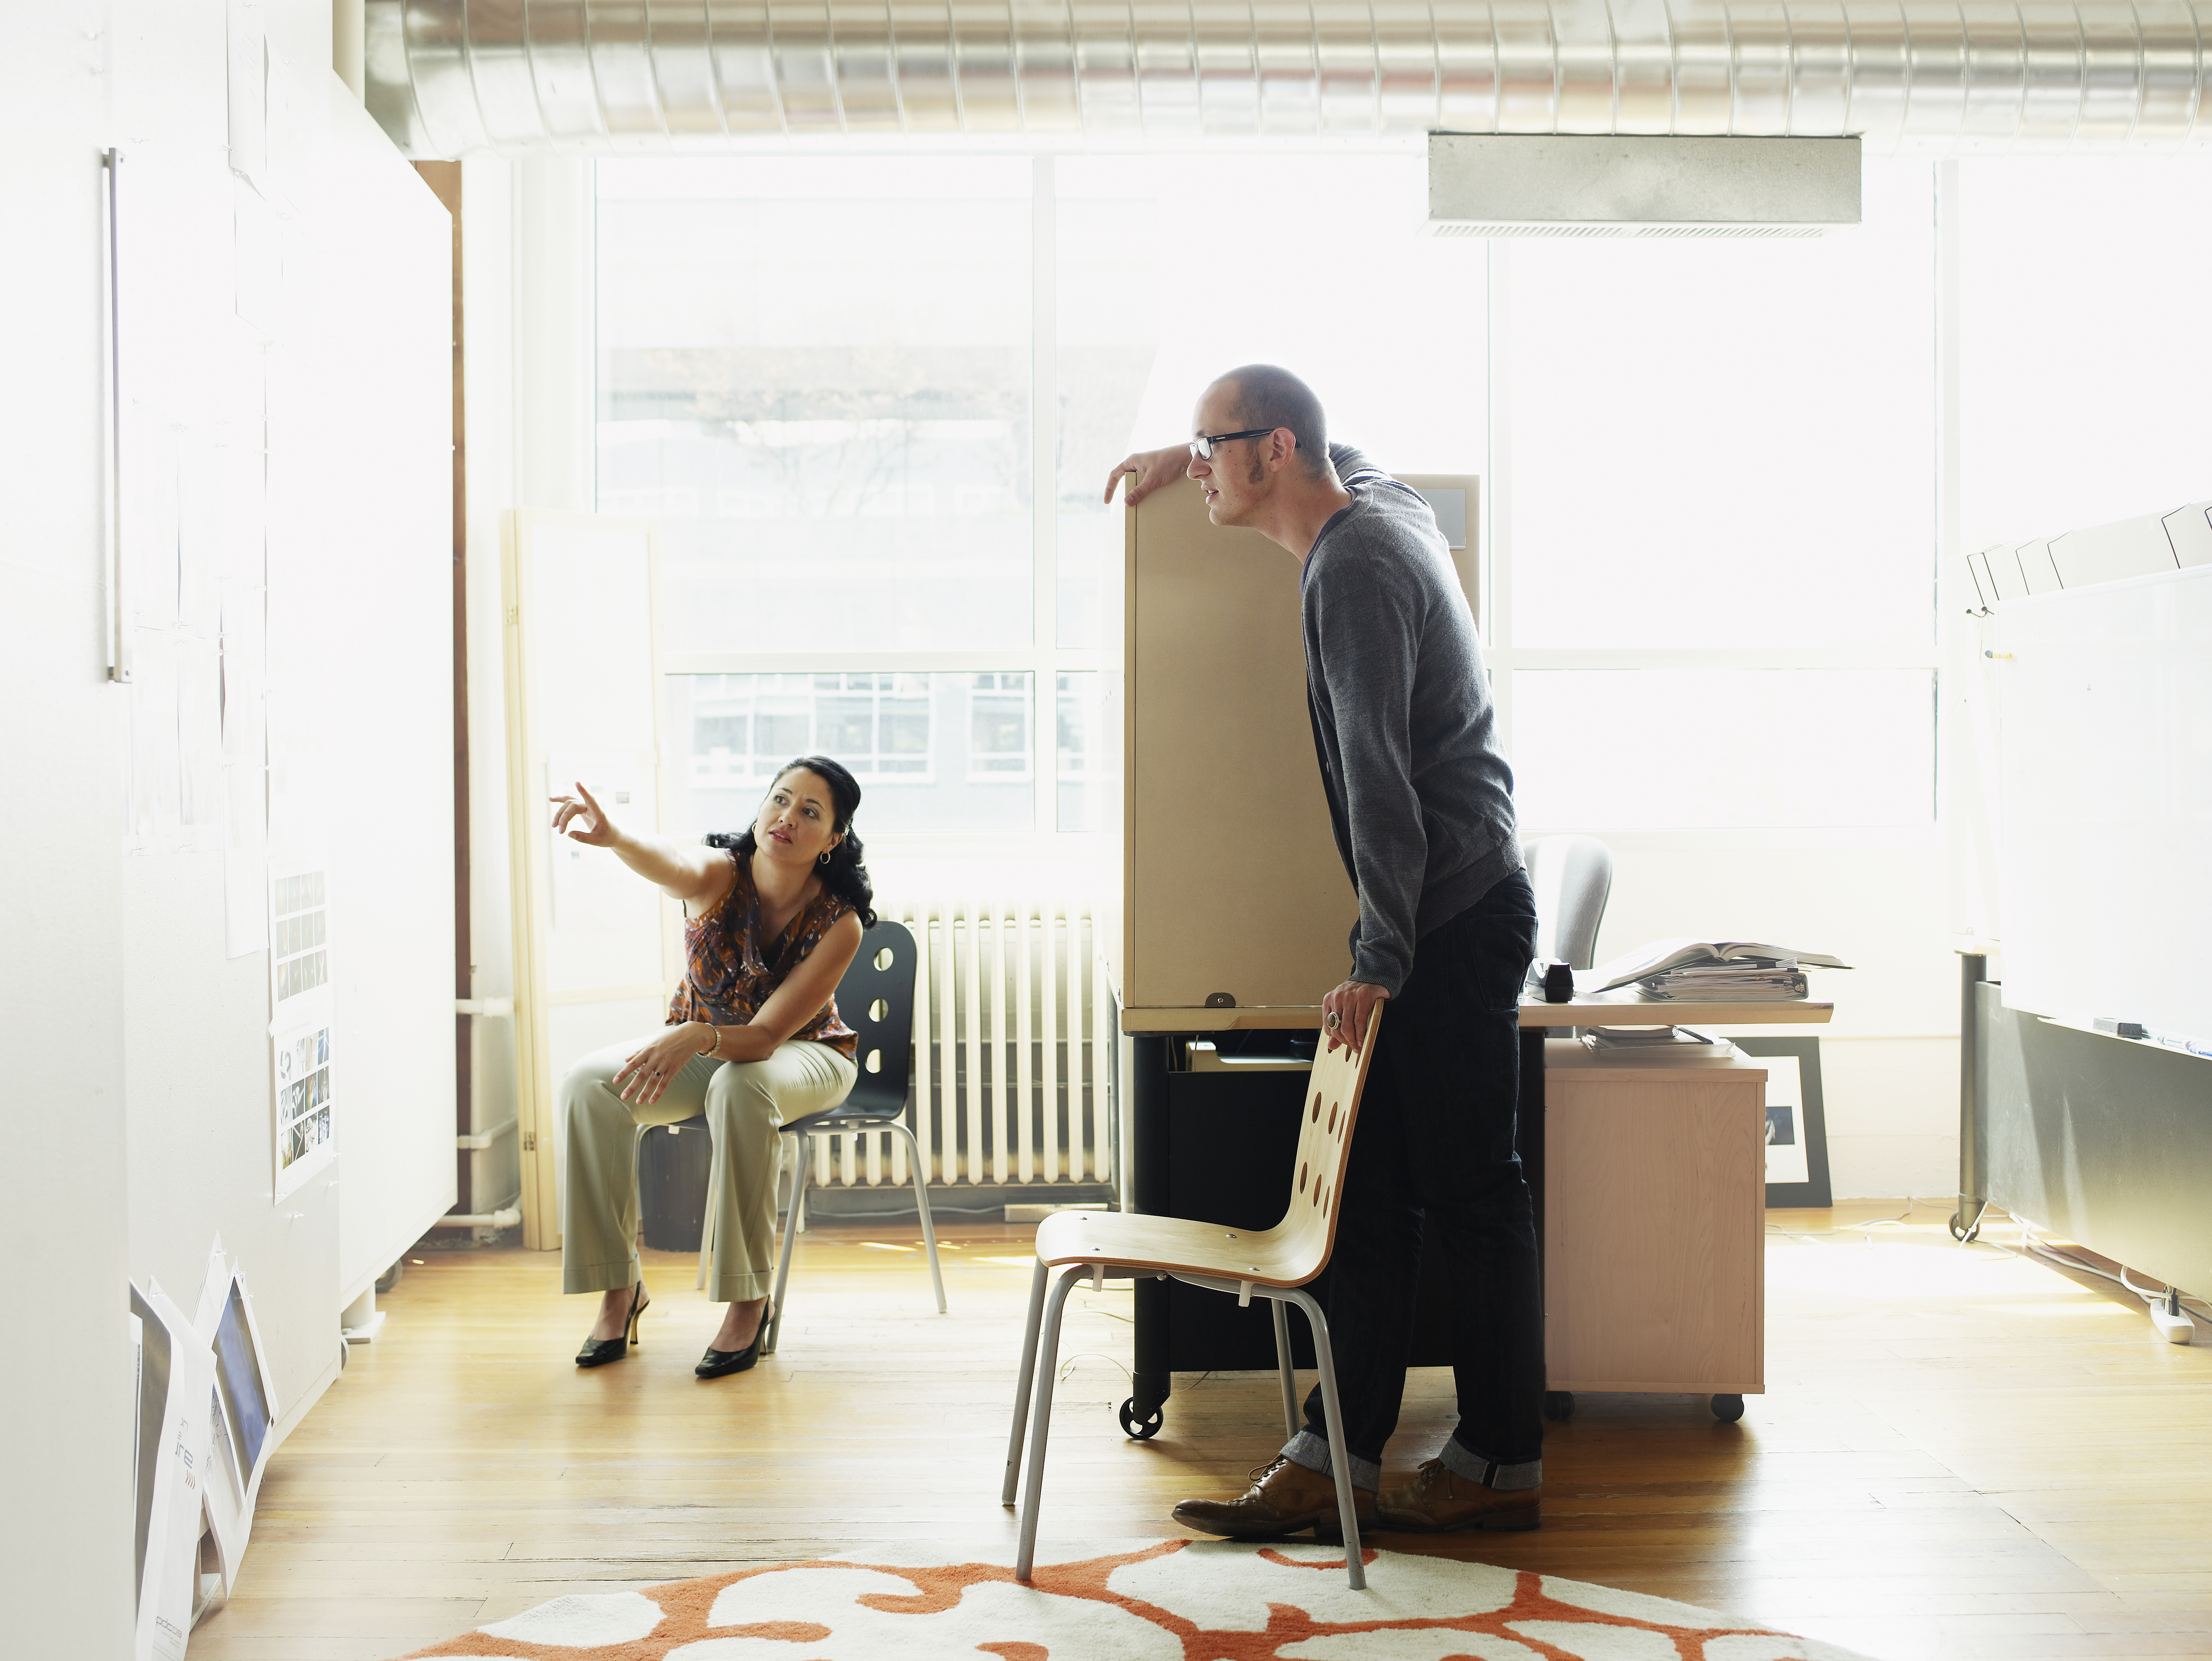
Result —
<instances>
[{"instance_id":1,"label":"dark jeans with rolled cuffs on the standing man","mask_svg":"<svg viewBox=\"0 0 2212 1661\"><path fill-rule=\"evenodd\" d=\"M1544 1296L1513 1143L1517 1009L1533 955L1535 891L1515 871L1420 940L1413 971L1383 1006L1329 1261L1329 1343L1354 1480L1380 1469L1398 1429L1425 1214L1449 1272L1460 1389L1451 1440L1473 1462L1544 1453ZM1305 1424L1327 1435L1318 1387L1305 1398Z\"/></svg>"}]
</instances>

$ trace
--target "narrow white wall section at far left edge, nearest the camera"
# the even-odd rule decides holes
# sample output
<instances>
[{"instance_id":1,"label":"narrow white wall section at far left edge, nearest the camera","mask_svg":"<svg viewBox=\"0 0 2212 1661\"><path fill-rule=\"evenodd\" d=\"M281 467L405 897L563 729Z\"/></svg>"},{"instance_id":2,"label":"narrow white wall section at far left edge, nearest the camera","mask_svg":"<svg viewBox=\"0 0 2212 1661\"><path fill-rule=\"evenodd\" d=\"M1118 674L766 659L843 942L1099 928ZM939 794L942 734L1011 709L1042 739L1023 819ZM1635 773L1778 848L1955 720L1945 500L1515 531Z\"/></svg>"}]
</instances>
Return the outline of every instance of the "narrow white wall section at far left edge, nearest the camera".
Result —
<instances>
[{"instance_id":1,"label":"narrow white wall section at far left edge, nearest the camera","mask_svg":"<svg viewBox=\"0 0 2212 1661\"><path fill-rule=\"evenodd\" d=\"M9 18L0 53L0 1252L38 1358L0 1373L18 1427L0 1519L9 1650L131 1650L124 1325L124 694L106 681L100 166L108 7ZM35 254L35 257L33 257ZM35 327L27 323L35 321ZM35 949L33 949L35 947ZM35 1305L35 1307L33 1307ZM24 1356L22 1360L31 1360ZM24 1504L35 1495L35 1504Z\"/></svg>"}]
</instances>

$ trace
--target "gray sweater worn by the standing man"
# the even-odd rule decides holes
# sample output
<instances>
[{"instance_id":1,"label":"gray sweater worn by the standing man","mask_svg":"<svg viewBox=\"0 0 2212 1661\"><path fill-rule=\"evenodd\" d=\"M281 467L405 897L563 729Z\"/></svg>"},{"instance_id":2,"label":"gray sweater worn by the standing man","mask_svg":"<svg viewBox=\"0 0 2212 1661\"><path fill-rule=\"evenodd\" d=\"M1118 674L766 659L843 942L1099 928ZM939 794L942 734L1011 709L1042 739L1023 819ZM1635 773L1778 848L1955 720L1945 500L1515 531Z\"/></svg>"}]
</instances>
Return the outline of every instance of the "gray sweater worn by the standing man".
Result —
<instances>
[{"instance_id":1,"label":"gray sweater worn by the standing man","mask_svg":"<svg viewBox=\"0 0 2212 1661\"><path fill-rule=\"evenodd\" d=\"M1305 555L1305 686L1360 896L1352 980L1396 995L1413 942L1522 869L1513 770L1436 515L1356 449L1329 460L1352 506Z\"/></svg>"}]
</instances>

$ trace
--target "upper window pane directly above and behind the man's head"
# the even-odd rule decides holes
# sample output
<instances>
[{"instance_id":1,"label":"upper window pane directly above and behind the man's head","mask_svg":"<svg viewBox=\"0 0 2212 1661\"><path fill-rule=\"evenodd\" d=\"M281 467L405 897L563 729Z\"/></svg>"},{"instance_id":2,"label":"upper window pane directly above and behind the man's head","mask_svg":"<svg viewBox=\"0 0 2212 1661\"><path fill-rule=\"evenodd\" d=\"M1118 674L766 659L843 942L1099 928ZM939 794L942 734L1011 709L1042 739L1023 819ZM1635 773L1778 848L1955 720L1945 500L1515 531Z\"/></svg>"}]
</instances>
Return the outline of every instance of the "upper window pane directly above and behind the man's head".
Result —
<instances>
[{"instance_id":1,"label":"upper window pane directly above and behind the man's head","mask_svg":"<svg viewBox=\"0 0 2212 1661\"><path fill-rule=\"evenodd\" d=\"M1425 155L1064 155L1055 175L1062 646L1097 646L1121 604L1106 469L1188 438L1223 369L1296 372L1329 436L1394 473L1484 471L1484 252L1420 234ZM1325 234L1294 257L1254 239L1321 223L1316 203Z\"/></svg>"}]
</instances>

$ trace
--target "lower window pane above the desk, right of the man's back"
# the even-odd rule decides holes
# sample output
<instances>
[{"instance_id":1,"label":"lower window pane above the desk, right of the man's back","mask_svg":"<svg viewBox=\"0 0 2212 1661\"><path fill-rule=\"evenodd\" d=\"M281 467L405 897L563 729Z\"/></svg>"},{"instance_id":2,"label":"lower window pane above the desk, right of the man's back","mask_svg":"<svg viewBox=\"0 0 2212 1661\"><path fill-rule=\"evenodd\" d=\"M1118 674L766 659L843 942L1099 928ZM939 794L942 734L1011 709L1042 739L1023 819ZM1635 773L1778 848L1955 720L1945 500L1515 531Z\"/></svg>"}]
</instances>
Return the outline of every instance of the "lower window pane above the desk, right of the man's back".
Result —
<instances>
[{"instance_id":1,"label":"lower window pane above the desk, right of the man's back","mask_svg":"<svg viewBox=\"0 0 2212 1661\"><path fill-rule=\"evenodd\" d=\"M1517 670L1513 781L1526 829L1927 825L1936 677Z\"/></svg>"}]
</instances>

